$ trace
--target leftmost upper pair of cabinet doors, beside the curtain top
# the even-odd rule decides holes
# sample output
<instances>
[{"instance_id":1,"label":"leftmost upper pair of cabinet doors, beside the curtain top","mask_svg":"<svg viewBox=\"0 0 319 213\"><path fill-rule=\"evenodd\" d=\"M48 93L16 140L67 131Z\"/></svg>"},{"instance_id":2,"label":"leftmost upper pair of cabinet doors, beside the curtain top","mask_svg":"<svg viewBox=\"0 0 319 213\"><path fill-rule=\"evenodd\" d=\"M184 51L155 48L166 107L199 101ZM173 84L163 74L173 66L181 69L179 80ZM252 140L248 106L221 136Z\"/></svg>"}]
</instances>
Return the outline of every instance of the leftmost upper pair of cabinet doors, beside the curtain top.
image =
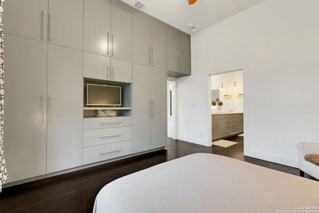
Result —
<instances>
[{"instance_id":1,"label":"leftmost upper pair of cabinet doors, beside the curtain top","mask_svg":"<svg viewBox=\"0 0 319 213\"><path fill-rule=\"evenodd\" d=\"M3 22L8 34L83 49L83 0L8 0Z\"/></svg>"}]
</instances>

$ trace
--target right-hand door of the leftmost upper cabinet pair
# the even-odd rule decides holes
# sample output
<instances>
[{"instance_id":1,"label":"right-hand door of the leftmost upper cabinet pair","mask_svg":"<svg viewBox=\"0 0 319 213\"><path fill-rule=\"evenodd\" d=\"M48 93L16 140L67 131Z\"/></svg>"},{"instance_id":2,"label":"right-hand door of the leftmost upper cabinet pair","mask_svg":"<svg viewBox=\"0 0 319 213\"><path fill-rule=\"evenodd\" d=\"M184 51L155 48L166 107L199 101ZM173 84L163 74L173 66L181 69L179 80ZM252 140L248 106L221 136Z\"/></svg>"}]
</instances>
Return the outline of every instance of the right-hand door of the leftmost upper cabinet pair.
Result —
<instances>
[{"instance_id":1,"label":"right-hand door of the leftmost upper cabinet pair","mask_svg":"<svg viewBox=\"0 0 319 213\"><path fill-rule=\"evenodd\" d=\"M48 42L83 50L83 0L49 0Z\"/></svg>"}]
</instances>

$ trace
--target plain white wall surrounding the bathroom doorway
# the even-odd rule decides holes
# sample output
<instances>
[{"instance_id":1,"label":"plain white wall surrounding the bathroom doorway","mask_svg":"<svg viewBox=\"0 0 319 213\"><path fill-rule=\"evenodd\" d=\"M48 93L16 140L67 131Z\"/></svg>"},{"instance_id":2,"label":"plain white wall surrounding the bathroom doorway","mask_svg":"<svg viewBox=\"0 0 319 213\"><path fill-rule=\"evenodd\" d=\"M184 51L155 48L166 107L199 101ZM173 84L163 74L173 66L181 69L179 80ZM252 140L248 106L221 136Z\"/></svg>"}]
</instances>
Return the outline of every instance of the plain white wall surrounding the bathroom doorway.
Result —
<instances>
[{"instance_id":1,"label":"plain white wall surrounding the bathroom doorway","mask_svg":"<svg viewBox=\"0 0 319 213\"><path fill-rule=\"evenodd\" d=\"M244 154L298 168L296 144L319 132L318 8L319 0L266 0L192 35L192 75L178 79L178 139L211 144L207 70L246 63Z\"/></svg>"}]
</instances>

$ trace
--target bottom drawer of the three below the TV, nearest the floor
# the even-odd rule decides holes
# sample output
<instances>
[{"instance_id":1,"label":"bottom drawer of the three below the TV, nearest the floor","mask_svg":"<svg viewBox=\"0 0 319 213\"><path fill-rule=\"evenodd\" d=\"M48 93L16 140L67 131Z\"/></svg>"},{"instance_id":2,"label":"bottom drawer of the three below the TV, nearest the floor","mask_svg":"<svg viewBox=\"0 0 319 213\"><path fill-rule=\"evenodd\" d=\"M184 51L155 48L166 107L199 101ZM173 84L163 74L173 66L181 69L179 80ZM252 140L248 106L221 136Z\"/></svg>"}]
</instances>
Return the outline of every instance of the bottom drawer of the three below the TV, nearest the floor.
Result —
<instances>
[{"instance_id":1,"label":"bottom drawer of the three below the TV, nearest the floor","mask_svg":"<svg viewBox=\"0 0 319 213\"><path fill-rule=\"evenodd\" d=\"M132 154L132 141L83 148L83 165Z\"/></svg>"}]
</instances>

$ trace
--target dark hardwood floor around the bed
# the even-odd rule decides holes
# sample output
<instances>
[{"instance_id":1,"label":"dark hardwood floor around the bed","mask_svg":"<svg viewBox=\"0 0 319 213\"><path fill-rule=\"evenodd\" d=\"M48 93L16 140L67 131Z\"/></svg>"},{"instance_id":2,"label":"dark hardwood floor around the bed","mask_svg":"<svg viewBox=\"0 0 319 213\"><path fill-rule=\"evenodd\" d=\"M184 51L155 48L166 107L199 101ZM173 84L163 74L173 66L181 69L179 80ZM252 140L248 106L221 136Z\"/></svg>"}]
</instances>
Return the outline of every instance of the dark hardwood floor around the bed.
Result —
<instances>
[{"instance_id":1,"label":"dark hardwood floor around the bed","mask_svg":"<svg viewBox=\"0 0 319 213\"><path fill-rule=\"evenodd\" d=\"M4 188L0 193L0 213L91 213L97 193L111 181L198 152L224 155L299 175L299 169L296 168L244 157L243 137L241 136L226 140L235 141L238 144L228 148L214 145L204 147L168 138L167 150Z\"/></svg>"}]
</instances>

